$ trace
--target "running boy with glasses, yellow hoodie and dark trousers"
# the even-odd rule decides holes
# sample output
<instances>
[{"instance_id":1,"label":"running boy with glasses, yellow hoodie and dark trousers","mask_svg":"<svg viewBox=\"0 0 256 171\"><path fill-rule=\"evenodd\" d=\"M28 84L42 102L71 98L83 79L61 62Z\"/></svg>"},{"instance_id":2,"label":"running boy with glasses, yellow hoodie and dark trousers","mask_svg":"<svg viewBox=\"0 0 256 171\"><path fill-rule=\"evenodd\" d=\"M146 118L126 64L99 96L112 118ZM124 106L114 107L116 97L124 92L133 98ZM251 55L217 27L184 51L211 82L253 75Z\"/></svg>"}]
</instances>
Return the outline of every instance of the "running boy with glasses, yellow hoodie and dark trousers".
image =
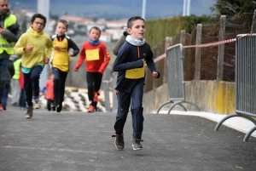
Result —
<instances>
[{"instance_id":1,"label":"running boy with glasses, yellow hoodie and dark trousers","mask_svg":"<svg viewBox=\"0 0 256 171\"><path fill-rule=\"evenodd\" d=\"M48 64L52 53L52 42L49 35L44 33L45 23L46 17L43 14L33 14L30 28L15 44L15 54L22 56L21 71L24 73L26 92L25 117L28 119L33 116L33 102L35 109L41 107L39 103L40 74L44 65Z\"/></svg>"}]
</instances>

